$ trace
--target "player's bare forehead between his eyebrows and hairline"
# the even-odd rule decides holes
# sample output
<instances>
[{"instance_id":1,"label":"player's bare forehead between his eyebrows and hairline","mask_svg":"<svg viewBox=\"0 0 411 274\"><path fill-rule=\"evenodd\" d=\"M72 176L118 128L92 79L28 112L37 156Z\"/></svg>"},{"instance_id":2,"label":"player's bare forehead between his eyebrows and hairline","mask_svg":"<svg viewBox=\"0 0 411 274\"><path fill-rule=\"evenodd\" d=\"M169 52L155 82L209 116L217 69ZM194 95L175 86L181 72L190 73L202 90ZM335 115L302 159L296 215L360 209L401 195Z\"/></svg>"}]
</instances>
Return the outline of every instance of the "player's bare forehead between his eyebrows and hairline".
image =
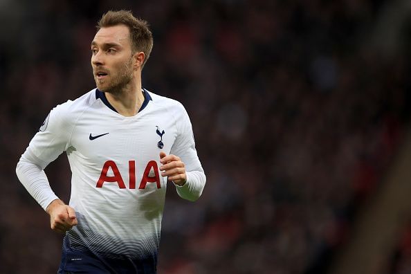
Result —
<instances>
[{"instance_id":1,"label":"player's bare forehead between his eyebrows and hairline","mask_svg":"<svg viewBox=\"0 0 411 274\"><path fill-rule=\"evenodd\" d=\"M110 26L107 28L100 28L95 33L92 44L107 44L117 43L122 46L130 44L130 31L125 25Z\"/></svg>"}]
</instances>

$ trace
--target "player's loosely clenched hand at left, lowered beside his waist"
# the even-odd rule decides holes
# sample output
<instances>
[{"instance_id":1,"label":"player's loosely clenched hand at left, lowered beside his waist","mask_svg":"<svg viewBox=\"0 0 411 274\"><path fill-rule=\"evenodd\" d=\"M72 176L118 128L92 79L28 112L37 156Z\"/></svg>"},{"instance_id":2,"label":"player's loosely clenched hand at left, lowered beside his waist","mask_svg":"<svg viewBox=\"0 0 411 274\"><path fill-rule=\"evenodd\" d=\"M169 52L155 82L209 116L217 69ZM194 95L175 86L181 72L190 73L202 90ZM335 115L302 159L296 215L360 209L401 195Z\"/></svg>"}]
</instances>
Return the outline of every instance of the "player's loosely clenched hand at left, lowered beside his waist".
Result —
<instances>
[{"instance_id":1,"label":"player's loosely clenched hand at left, lowered beside his waist","mask_svg":"<svg viewBox=\"0 0 411 274\"><path fill-rule=\"evenodd\" d=\"M50 226L53 231L64 234L77 224L75 211L62 200L54 200L46 208L50 215Z\"/></svg>"}]
</instances>

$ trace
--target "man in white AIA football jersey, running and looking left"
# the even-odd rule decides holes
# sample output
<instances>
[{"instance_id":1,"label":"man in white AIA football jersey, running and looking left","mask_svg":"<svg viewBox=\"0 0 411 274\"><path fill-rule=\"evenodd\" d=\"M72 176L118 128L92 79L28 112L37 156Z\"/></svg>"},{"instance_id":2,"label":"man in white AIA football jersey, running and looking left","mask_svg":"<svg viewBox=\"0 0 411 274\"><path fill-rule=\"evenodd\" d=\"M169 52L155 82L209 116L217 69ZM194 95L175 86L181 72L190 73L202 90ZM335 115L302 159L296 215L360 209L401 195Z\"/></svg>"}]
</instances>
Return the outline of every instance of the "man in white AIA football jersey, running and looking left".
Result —
<instances>
[{"instance_id":1,"label":"man in white AIA football jersey, running and looking left","mask_svg":"<svg viewBox=\"0 0 411 274\"><path fill-rule=\"evenodd\" d=\"M184 107L143 89L152 51L147 22L109 11L91 42L97 89L55 107L17 164L17 176L65 233L59 273L156 273L167 178L183 199L206 176ZM44 168L66 152L69 205Z\"/></svg>"}]
</instances>

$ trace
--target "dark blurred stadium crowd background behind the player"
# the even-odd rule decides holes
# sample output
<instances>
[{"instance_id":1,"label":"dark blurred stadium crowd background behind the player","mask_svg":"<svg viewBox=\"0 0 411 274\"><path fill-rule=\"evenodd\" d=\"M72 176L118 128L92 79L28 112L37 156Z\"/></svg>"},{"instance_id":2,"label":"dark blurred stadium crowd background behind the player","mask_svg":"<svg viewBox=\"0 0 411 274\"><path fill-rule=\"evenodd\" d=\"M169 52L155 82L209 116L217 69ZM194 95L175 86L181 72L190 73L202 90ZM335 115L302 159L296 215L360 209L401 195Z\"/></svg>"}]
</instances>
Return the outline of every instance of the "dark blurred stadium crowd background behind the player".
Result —
<instances>
[{"instance_id":1,"label":"dark blurred stadium crowd background behind the player","mask_svg":"<svg viewBox=\"0 0 411 274\"><path fill-rule=\"evenodd\" d=\"M158 273L411 273L411 5L401 0L0 0L0 273L55 273L62 237L15 165L93 89L109 9L147 19L143 86L180 100L208 175L167 193ZM66 157L46 169L69 199Z\"/></svg>"}]
</instances>

